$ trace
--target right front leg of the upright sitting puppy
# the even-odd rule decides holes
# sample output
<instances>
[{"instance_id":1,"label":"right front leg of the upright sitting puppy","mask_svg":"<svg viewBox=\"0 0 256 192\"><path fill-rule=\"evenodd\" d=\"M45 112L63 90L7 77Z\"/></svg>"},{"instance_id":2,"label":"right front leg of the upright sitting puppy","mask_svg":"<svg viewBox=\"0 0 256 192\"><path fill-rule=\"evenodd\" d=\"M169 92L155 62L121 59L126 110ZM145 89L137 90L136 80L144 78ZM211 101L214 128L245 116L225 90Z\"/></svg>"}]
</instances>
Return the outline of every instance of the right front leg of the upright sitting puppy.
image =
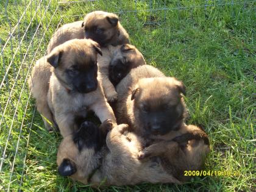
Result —
<instances>
[{"instance_id":1,"label":"right front leg of the upright sitting puppy","mask_svg":"<svg viewBox=\"0 0 256 192\"><path fill-rule=\"evenodd\" d=\"M114 112L108 102L104 99L94 102L90 109L98 116L101 123L107 119L111 119L114 126L116 126L116 118Z\"/></svg>"}]
</instances>

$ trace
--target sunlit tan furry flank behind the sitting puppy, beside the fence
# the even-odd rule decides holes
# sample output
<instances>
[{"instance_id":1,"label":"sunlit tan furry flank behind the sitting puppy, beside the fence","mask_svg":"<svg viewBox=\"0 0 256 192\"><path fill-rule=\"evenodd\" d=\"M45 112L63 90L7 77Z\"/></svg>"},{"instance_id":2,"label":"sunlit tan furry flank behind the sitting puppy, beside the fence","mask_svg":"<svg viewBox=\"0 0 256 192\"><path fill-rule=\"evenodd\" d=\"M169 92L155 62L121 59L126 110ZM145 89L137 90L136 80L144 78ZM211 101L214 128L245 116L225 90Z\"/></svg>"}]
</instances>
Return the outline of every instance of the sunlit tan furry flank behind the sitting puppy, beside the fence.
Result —
<instances>
[{"instance_id":1,"label":"sunlit tan furry flank behind the sitting puppy, beside the fence","mask_svg":"<svg viewBox=\"0 0 256 192\"><path fill-rule=\"evenodd\" d=\"M47 101L51 68L53 67L47 62L46 57L43 57L37 60L29 78L29 88L35 98L35 105L48 130L57 128Z\"/></svg>"}]
</instances>

